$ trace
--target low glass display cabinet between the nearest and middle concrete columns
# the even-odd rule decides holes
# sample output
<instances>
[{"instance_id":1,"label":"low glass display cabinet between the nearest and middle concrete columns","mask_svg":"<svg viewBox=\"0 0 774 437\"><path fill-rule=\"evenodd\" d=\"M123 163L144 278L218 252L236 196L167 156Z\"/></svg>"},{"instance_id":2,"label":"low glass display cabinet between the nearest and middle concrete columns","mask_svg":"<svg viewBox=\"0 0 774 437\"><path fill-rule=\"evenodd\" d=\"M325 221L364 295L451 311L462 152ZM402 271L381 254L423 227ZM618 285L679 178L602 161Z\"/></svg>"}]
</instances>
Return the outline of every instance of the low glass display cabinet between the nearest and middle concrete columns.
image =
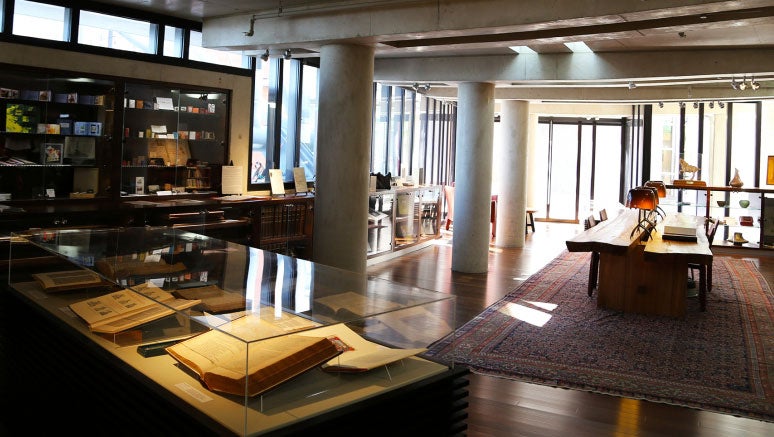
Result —
<instances>
[{"instance_id":1,"label":"low glass display cabinet between the nearest and middle concrete columns","mask_svg":"<svg viewBox=\"0 0 774 437\"><path fill-rule=\"evenodd\" d=\"M438 238L441 188L401 187L369 196L368 256L374 257Z\"/></svg>"}]
</instances>

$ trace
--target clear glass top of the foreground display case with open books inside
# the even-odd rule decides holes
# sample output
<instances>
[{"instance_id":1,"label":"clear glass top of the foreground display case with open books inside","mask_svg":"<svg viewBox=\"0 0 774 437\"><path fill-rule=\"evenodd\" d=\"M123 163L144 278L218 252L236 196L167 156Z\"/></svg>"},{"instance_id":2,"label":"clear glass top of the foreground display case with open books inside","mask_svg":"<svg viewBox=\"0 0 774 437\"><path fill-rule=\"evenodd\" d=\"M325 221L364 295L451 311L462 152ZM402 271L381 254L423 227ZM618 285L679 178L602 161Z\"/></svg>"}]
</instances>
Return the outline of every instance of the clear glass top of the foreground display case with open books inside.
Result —
<instances>
[{"instance_id":1,"label":"clear glass top of the foreground display case with open books inside","mask_svg":"<svg viewBox=\"0 0 774 437\"><path fill-rule=\"evenodd\" d=\"M450 295L173 228L16 237L66 261L36 275L82 270L101 281L54 291L16 272L11 292L219 434L320 429L341 411L463 373L423 356L453 333Z\"/></svg>"}]
</instances>

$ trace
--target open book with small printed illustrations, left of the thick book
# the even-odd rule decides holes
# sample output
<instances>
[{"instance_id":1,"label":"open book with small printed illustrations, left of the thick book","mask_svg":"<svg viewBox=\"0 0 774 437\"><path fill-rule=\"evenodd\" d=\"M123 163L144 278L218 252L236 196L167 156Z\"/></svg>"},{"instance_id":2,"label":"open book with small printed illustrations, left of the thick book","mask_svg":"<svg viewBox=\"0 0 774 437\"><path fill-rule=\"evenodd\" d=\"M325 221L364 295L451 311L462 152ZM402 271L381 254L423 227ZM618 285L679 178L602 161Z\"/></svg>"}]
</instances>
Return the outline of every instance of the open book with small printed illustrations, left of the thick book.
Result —
<instances>
[{"instance_id":1,"label":"open book with small printed illustrations, left of the thick book","mask_svg":"<svg viewBox=\"0 0 774 437\"><path fill-rule=\"evenodd\" d=\"M134 291L119 290L76 302L70 309L89 325L90 330L115 334L191 308L199 302L176 299L158 287L143 284Z\"/></svg>"}]
</instances>

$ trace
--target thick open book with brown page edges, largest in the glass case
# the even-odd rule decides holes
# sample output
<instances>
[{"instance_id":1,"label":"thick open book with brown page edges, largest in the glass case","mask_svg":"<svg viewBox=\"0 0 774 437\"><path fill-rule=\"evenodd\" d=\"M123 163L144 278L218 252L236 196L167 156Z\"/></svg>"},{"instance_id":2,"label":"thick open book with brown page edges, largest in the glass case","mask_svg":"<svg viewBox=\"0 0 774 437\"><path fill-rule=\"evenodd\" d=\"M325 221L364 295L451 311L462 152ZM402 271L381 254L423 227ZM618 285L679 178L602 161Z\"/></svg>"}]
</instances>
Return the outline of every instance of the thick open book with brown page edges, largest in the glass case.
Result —
<instances>
[{"instance_id":1,"label":"thick open book with brown page edges, largest in the glass case","mask_svg":"<svg viewBox=\"0 0 774 437\"><path fill-rule=\"evenodd\" d=\"M325 337L291 334L246 343L220 331L197 335L167 352L208 389L239 396L264 393L341 353Z\"/></svg>"}]
</instances>

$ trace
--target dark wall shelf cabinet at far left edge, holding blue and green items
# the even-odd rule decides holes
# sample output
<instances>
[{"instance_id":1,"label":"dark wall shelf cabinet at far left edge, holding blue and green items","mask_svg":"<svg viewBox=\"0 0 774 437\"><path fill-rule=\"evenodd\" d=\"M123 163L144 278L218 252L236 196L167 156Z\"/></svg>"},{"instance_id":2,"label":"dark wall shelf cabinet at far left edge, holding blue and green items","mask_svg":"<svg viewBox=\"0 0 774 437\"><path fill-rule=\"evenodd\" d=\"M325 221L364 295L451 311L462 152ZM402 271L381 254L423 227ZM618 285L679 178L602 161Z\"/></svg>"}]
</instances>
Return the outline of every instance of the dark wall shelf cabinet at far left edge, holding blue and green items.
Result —
<instances>
[{"instance_id":1,"label":"dark wall shelf cabinet at far left edge, holding blue and green items","mask_svg":"<svg viewBox=\"0 0 774 437\"><path fill-rule=\"evenodd\" d=\"M115 83L0 70L0 202L109 196Z\"/></svg>"}]
</instances>

